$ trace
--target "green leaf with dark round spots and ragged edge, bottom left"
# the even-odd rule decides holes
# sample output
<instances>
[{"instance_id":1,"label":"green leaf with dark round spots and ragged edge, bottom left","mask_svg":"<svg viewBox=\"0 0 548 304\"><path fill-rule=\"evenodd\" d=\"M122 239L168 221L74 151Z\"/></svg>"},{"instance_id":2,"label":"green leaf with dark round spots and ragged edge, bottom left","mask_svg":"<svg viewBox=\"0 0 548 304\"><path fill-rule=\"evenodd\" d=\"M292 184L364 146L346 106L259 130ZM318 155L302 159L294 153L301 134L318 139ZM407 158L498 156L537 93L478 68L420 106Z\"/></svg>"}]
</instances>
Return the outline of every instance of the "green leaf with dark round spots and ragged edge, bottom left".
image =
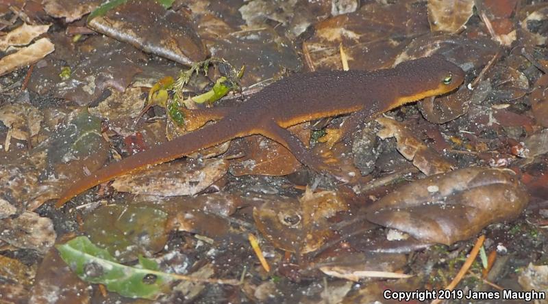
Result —
<instances>
[{"instance_id":1,"label":"green leaf with dark round spots and ragged edge, bottom left","mask_svg":"<svg viewBox=\"0 0 548 304\"><path fill-rule=\"evenodd\" d=\"M119 264L108 251L92 244L86 236L55 247L78 277L103 284L109 291L129 298L156 299L172 280L169 274L158 271L155 261L142 256L134 267Z\"/></svg>"}]
</instances>

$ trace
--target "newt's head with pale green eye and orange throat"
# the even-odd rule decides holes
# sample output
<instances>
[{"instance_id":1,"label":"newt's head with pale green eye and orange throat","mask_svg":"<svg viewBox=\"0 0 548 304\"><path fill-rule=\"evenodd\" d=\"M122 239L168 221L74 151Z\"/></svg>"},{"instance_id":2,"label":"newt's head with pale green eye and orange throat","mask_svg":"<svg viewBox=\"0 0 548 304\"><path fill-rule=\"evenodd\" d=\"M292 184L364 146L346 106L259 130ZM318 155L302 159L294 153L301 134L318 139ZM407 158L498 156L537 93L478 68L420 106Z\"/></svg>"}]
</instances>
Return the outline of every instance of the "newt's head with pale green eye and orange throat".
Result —
<instances>
[{"instance_id":1,"label":"newt's head with pale green eye and orange throat","mask_svg":"<svg viewBox=\"0 0 548 304\"><path fill-rule=\"evenodd\" d=\"M399 84L399 105L451 92L464 81L464 71L440 55L402 62L395 70L406 78Z\"/></svg>"}]
</instances>

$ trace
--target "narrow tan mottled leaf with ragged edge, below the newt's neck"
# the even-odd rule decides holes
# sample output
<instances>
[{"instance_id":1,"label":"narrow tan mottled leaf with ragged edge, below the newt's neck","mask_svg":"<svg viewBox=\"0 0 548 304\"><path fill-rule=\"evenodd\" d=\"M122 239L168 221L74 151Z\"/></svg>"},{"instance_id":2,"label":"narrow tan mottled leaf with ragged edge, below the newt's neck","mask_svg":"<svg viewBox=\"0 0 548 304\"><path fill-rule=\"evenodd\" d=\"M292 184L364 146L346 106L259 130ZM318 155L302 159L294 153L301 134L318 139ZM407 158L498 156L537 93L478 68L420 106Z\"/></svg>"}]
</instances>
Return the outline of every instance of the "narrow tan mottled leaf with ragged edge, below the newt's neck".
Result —
<instances>
[{"instance_id":1,"label":"narrow tan mottled leaf with ragged edge, below the newt's neck","mask_svg":"<svg viewBox=\"0 0 548 304\"><path fill-rule=\"evenodd\" d=\"M426 146L403 124L390 118L377 118L377 122L384 126L377 135L382 139L395 137L397 150L403 157L413 161L413 165L424 174L440 174L450 171L453 167L451 161L438 154L436 150Z\"/></svg>"}]
</instances>

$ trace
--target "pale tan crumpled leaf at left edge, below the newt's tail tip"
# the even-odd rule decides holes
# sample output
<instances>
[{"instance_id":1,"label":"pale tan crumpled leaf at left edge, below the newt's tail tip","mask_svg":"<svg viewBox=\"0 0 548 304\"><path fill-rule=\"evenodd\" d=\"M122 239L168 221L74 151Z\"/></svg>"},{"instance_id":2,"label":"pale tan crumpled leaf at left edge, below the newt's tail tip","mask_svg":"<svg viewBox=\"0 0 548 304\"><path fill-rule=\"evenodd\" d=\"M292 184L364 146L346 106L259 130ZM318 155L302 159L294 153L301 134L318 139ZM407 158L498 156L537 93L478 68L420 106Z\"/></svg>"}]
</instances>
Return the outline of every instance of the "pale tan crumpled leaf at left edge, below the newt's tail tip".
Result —
<instances>
[{"instance_id":1,"label":"pale tan crumpled leaf at left edge, below the newt's tail tip","mask_svg":"<svg viewBox=\"0 0 548 304\"><path fill-rule=\"evenodd\" d=\"M14 247L46 253L55 243L53 221L34 212L23 212L16 218L0 221L0 240Z\"/></svg>"}]
</instances>

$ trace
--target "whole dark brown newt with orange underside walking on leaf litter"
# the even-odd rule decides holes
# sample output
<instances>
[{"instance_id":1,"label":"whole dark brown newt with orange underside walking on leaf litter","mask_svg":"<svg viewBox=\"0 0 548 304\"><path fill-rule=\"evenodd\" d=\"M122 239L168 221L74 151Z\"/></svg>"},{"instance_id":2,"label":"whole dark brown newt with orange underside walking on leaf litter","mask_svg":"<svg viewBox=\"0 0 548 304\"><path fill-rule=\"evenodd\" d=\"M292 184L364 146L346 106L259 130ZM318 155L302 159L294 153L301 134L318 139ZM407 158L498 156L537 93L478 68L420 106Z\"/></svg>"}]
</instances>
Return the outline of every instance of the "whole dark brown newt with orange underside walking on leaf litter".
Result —
<instances>
[{"instance_id":1,"label":"whole dark brown newt with orange underside walking on leaf litter","mask_svg":"<svg viewBox=\"0 0 548 304\"><path fill-rule=\"evenodd\" d=\"M325 164L286 128L301 122L352 113L341 128L350 133L360 122L408 102L445 94L464 80L464 72L440 55L403 62L395 68L365 72L321 71L286 77L251 96L239 107L186 111L199 130L112 163L77 180L56 206L117 176L171 161L236 137L263 135L286 147L304 165L324 171Z\"/></svg>"}]
</instances>

